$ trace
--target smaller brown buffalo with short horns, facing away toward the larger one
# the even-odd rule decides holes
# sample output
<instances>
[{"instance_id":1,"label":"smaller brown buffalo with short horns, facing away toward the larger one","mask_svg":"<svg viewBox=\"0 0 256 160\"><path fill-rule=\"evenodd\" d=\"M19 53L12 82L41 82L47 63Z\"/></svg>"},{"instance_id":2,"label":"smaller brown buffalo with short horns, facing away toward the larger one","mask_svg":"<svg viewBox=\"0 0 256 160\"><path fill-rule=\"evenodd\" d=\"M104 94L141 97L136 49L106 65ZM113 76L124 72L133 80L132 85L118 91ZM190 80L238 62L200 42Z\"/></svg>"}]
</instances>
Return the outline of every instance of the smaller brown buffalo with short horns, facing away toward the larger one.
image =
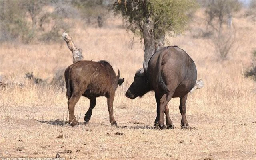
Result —
<instances>
[{"instance_id":1,"label":"smaller brown buffalo with short horns, facing away toward the larger one","mask_svg":"<svg viewBox=\"0 0 256 160\"><path fill-rule=\"evenodd\" d=\"M116 76L112 66L104 60L78 61L65 70L69 122L72 127L77 125L74 108L81 96L90 99L90 107L84 116L84 121L89 122L92 109L96 105L96 97L105 96L108 98L109 122L117 126L113 116L113 101L117 86L124 82L124 78L119 77L120 71L118 70Z\"/></svg>"}]
</instances>

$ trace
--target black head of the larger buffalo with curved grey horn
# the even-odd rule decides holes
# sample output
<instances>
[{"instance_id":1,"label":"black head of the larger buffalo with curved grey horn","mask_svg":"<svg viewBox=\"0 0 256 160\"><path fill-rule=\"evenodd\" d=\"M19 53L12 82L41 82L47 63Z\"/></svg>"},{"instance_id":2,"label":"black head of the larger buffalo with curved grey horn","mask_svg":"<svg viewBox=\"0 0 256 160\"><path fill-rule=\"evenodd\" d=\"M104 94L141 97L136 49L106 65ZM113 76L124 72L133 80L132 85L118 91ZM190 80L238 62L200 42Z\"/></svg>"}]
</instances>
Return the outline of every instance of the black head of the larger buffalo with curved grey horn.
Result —
<instances>
[{"instance_id":1,"label":"black head of the larger buffalo with curved grey horn","mask_svg":"<svg viewBox=\"0 0 256 160\"><path fill-rule=\"evenodd\" d=\"M134 76L134 81L126 91L125 96L134 99L138 96L142 97L144 94L149 92L150 84L148 83L148 77L147 77L147 69L148 69L148 63L143 63L143 68L140 68Z\"/></svg>"}]
</instances>

